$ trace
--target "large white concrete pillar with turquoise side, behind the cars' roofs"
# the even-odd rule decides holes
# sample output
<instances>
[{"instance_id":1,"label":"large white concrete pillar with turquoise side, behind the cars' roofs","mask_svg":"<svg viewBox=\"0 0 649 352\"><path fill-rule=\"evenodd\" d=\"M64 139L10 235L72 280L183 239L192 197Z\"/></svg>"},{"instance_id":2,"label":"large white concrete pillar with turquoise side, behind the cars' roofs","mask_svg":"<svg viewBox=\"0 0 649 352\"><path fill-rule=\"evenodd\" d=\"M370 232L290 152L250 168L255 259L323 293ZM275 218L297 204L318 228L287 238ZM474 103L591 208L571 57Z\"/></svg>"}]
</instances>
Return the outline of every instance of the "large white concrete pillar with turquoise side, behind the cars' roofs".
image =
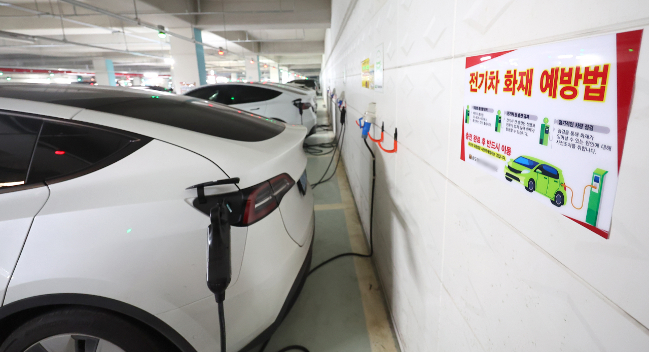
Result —
<instances>
[{"instance_id":1,"label":"large white concrete pillar with turquoise side, behind the cars' roofs","mask_svg":"<svg viewBox=\"0 0 649 352\"><path fill-rule=\"evenodd\" d=\"M178 28L174 32L186 37L193 37L202 42L201 30L195 28ZM176 94L183 94L191 88L207 84L207 71L205 70L205 54L202 45L193 44L171 36L171 77L173 90Z\"/></svg>"}]
</instances>

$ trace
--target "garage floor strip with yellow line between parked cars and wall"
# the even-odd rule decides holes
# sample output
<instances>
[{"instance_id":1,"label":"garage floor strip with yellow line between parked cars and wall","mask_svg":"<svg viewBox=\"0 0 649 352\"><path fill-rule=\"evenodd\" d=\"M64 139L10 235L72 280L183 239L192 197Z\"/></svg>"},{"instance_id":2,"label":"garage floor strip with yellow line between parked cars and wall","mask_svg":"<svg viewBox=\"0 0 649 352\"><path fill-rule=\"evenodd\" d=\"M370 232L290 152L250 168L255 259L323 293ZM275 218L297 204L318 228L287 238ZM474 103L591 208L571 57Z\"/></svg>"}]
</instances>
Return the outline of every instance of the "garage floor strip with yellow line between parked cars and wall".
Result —
<instances>
[{"instance_id":1,"label":"garage floor strip with yellow line between parked cars and wall","mask_svg":"<svg viewBox=\"0 0 649 352\"><path fill-rule=\"evenodd\" d=\"M319 123L326 123L323 106L319 101ZM331 157L309 157L310 183L322 177ZM339 253L368 252L344 169L341 162L330 181L309 191L315 197L312 268ZM311 352L399 351L371 259L339 258L310 275L264 352L290 345Z\"/></svg>"}]
</instances>

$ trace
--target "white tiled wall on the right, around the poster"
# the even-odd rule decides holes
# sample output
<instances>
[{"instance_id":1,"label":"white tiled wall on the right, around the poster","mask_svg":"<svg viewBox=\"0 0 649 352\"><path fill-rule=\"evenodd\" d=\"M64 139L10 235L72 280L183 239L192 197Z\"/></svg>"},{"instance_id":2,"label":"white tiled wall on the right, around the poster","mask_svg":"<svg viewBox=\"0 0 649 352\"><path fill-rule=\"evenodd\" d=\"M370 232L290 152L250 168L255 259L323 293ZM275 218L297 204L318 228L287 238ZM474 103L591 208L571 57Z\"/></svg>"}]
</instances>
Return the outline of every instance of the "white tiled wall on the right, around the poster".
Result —
<instances>
[{"instance_id":1,"label":"white tiled wall on the right, around the poster","mask_svg":"<svg viewBox=\"0 0 649 352\"><path fill-rule=\"evenodd\" d=\"M459 159L465 57L633 29L645 35L609 240ZM373 146L374 261L404 352L649 351L648 29L640 0L332 0L321 86L345 92L366 233L371 158L353 119L376 102L386 147L398 127L396 154ZM380 44L383 93L361 88Z\"/></svg>"}]
</instances>

